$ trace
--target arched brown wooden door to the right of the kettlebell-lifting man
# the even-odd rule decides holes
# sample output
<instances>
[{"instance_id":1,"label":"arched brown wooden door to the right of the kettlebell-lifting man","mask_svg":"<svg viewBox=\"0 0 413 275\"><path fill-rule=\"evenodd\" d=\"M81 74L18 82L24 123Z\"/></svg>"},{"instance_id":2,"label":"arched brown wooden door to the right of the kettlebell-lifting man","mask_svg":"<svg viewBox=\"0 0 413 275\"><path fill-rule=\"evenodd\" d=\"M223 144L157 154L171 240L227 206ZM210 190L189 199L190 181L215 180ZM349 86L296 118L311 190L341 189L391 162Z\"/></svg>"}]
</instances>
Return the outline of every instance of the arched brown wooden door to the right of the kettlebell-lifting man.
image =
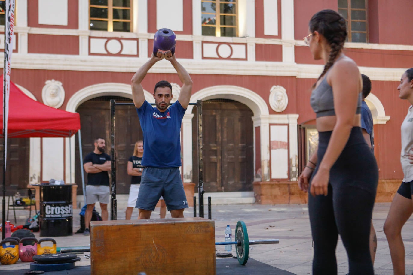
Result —
<instances>
[{"instance_id":1,"label":"arched brown wooden door to the right of the kettlebell-lifting man","mask_svg":"<svg viewBox=\"0 0 413 275\"><path fill-rule=\"evenodd\" d=\"M192 144L197 148L197 110ZM252 191L254 144L252 111L244 104L214 99L202 102L204 189L207 192ZM193 151L193 181L198 183L198 152Z\"/></svg>"}]
</instances>

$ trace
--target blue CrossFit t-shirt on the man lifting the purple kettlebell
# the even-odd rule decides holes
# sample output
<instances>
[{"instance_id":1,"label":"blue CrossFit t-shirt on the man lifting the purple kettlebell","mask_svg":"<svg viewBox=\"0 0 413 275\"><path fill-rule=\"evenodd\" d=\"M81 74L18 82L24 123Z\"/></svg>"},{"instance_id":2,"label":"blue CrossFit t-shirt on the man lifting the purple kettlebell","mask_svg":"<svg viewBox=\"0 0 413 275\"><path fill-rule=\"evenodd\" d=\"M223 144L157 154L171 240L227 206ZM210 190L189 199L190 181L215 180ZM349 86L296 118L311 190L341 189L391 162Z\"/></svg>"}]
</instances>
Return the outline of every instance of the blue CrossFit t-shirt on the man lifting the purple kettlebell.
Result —
<instances>
[{"instance_id":1,"label":"blue CrossFit t-shirt on the man lifting the purple kettlebell","mask_svg":"<svg viewBox=\"0 0 413 275\"><path fill-rule=\"evenodd\" d=\"M143 132L142 166L180 167L180 128L184 108L178 101L165 112L159 112L149 102L136 108Z\"/></svg>"}]
</instances>

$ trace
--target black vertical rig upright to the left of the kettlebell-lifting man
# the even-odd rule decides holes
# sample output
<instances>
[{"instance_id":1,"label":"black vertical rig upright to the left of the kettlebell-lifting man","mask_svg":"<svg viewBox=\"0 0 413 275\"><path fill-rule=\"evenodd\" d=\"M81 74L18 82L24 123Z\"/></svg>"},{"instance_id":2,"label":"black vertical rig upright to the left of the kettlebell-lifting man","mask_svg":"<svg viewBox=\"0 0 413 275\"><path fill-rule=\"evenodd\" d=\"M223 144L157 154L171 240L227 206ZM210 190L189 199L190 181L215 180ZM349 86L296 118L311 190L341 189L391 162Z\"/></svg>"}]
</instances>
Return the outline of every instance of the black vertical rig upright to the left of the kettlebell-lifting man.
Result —
<instances>
[{"instance_id":1,"label":"black vertical rig upright to the left of the kettlebell-lifting man","mask_svg":"<svg viewBox=\"0 0 413 275\"><path fill-rule=\"evenodd\" d=\"M116 203L116 155L115 155L115 106L116 101L110 100L110 154L111 154L111 200L110 200L110 219L118 219Z\"/></svg>"}]
</instances>

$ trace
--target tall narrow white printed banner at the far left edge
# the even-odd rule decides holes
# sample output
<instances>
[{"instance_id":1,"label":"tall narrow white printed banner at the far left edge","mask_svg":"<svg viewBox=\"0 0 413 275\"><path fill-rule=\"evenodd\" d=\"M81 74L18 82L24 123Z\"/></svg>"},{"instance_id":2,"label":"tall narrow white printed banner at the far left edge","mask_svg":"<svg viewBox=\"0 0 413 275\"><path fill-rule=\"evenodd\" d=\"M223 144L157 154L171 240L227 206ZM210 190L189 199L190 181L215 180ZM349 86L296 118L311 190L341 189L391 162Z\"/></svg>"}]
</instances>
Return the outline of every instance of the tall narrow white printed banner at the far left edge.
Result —
<instances>
[{"instance_id":1,"label":"tall narrow white printed banner at the far left edge","mask_svg":"<svg viewBox=\"0 0 413 275\"><path fill-rule=\"evenodd\" d=\"M4 150L4 172L6 172L7 160L7 120L9 118L9 96L10 96L10 62L13 52L14 31L14 0L6 0L5 5L5 41L4 41L4 67L3 67L3 150ZM4 184L4 183L3 183Z\"/></svg>"}]
</instances>

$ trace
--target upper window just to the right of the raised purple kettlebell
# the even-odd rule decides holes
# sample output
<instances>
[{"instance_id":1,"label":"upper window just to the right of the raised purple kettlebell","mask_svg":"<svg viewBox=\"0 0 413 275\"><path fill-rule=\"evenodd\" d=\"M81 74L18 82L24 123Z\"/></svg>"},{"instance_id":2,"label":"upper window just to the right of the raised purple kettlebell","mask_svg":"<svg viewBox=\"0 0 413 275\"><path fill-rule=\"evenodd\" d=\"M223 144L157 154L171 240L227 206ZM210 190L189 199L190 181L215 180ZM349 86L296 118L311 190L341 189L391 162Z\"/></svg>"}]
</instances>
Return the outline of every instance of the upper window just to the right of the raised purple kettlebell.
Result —
<instances>
[{"instance_id":1,"label":"upper window just to the right of the raised purple kettlebell","mask_svg":"<svg viewBox=\"0 0 413 275\"><path fill-rule=\"evenodd\" d=\"M237 0L202 0L202 35L238 35Z\"/></svg>"}]
</instances>

